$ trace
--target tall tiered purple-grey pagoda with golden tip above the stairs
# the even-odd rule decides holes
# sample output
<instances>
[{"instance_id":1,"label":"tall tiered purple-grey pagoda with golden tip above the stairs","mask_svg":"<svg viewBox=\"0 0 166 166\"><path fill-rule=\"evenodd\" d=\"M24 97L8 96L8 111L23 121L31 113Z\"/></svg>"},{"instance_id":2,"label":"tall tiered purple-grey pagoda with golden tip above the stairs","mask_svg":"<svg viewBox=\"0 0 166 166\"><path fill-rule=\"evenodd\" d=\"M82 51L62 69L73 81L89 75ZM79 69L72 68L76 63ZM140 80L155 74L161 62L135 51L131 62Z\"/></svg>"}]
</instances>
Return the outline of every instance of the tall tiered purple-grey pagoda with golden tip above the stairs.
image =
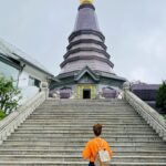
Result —
<instances>
[{"instance_id":1,"label":"tall tiered purple-grey pagoda with golden tip above the stairs","mask_svg":"<svg viewBox=\"0 0 166 166\"><path fill-rule=\"evenodd\" d=\"M61 72L51 91L61 98L113 97L126 80L113 72L114 64L104 42L92 0L81 0Z\"/></svg>"}]
</instances>

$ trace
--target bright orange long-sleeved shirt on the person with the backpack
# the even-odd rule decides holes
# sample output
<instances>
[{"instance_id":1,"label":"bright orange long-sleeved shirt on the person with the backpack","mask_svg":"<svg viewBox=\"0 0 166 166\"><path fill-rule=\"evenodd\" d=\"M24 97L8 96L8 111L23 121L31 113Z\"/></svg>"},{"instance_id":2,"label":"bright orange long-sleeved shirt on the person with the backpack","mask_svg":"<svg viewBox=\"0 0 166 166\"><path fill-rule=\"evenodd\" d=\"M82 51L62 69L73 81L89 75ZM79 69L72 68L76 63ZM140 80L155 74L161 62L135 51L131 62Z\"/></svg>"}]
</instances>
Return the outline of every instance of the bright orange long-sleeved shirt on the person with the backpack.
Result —
<instances>
[{"instance_id":1,"label":"bright orange long-sleeved shirt on the person with the backpack","mask_svg":"<svg viewBox=\"0 0 166 166\"><path fill-rule=\"evenodd\" d=\"M90 162L94 162L98 152L98 146L102 149L106 149L110 153L110 156L113 157L113 152L110 148L107 142L100 137L95 137L86 143L86 146L82 153L83 158L90 159Z\"/></svg>"}]
</instances>

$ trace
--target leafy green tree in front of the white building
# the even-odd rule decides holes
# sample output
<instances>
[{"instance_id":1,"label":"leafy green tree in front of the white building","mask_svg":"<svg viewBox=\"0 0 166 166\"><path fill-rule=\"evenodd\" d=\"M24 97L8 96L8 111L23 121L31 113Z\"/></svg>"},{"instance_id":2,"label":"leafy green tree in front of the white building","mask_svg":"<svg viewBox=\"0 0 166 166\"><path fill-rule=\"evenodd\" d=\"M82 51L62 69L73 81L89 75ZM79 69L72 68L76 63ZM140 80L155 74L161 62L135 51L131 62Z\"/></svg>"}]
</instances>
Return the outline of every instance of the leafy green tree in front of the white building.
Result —
<instances>
[{"instance_id":1,"label":"leafy green tree in front of the white building","mask_svg":"<svg viewBox=\"0 0 166 166\"><path fill-rule=\"evenodd\" d=\"M18 107L20 98L20 91L13 86L13 80L0 76L0 111L10 114Z\"/></svg>"}]
</instances>

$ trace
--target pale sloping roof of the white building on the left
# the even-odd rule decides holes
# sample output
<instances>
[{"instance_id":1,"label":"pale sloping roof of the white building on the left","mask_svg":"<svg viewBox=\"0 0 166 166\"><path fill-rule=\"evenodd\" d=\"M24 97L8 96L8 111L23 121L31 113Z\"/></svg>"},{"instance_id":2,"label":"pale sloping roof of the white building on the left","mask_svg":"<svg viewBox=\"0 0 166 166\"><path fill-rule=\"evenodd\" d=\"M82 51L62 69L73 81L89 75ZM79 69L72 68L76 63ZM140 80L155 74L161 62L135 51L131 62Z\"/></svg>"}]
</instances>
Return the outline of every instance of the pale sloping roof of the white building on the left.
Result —
<instances>
[{"instance_id":1,"label":"pale sloping roof of the white building on the left","mask_svg":"<svg viewBox=\"0 0 166 166\"><path fill-rule=\"evenodd\" d=\"M28 55L27 53L24 53L17 46L8 43L7 41L4 41L1 38L0 38L0 53L7 58L29 64L29 65L35 68L37 70L40 70L49 75L53 75L40 62L38 62L33 58L31 58L30 55Z\"/></svg>"}]
</instances>

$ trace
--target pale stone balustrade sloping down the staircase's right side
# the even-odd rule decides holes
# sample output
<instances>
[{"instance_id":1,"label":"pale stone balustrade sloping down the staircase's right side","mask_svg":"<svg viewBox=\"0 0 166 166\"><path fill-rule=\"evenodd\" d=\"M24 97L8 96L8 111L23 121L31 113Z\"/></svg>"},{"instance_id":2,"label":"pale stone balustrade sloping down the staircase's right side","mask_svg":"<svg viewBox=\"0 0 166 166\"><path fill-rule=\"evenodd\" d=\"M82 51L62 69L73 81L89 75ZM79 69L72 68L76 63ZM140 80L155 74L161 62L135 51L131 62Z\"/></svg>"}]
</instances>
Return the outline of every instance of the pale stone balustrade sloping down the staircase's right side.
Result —
<instances>
[{"instance_id":1,"label":"pale stone balustrade sloping down the staircase's right side","mask_svg":"<svg viewBox=\"0 0 166 166\"><path fill-rule=\"evenodd\" d=\"M124 89L124 98L166 141L166 122L164 117L128 89Z\"/></svg>"}]
</instances>

